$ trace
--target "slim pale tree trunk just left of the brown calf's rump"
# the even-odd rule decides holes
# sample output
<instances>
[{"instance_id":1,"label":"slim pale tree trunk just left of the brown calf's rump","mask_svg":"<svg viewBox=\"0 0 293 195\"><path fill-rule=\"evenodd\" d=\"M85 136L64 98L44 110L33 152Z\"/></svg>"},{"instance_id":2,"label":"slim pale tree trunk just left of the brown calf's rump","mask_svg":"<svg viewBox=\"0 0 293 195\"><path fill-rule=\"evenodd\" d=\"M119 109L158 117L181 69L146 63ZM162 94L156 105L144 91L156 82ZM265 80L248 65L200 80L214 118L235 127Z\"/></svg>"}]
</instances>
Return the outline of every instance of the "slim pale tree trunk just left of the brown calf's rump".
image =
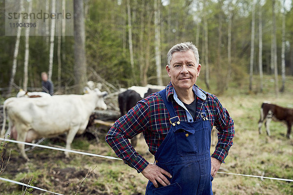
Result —
<instances>
[{"instance_id":1,"label":"slim pale tree trunk just left of the brown calf's rump","mask_svg":"<svg viewBox=\"0 0 293 195\"><path fill-rule=\"evenodd\" d=\"M255 22L255 5L252 3L252 19L251 19L251 59L249 71L249 90L252 90L252 75L253 75L253 55L254 55L254 22Z\"/></svg>"}]
</instances>

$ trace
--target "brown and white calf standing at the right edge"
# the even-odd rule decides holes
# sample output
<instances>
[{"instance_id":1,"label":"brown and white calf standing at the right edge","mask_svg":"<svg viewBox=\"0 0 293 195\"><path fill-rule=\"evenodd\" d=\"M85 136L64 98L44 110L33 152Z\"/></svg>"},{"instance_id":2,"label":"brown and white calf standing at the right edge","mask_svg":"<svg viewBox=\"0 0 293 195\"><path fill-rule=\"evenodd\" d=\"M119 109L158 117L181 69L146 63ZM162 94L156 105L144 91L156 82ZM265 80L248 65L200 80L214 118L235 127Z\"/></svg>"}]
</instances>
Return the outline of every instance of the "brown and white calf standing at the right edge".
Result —
<instances>
[{"instance_id":1,"label":"brown and white calf standing at the right edge","mask_svg":"<svg viewBox=\"0 0 293 195\"><path fill-rule=\"evenodd\" d=\"M270 133L270 122L274 121L283 121L287 124L287 137L291 138L291 128L293 124L293 109L284 108L271 104L269 102L264 102L260 108L260 119L258 121L258 132L261 134L262 123L265 122L266 130L268 136Z\"/></svg>"}]
</instances>

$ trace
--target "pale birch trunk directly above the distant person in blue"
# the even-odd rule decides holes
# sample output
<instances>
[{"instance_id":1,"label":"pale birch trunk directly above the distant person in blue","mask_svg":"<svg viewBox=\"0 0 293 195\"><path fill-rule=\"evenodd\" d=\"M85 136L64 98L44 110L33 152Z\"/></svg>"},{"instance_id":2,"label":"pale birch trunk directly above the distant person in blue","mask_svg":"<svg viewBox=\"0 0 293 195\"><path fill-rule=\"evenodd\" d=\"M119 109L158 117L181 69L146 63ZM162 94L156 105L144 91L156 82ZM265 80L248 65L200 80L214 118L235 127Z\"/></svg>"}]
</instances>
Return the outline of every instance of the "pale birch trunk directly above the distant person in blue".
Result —
<instances>
[{"instance_id":1,"label":"pale birch trunk directly above the distant person in blue","mask_svg":"<svg viewBox=\"0 0 293 195\"><path fill-rule=\"evenodd\" d=\"M56 0L52 0L52 12L56 13ZM51 20L51 35L50 35L50 54L49 54L49 71L48 79L52 80L53 59L54 59L54 39L55 39L55 23L56 20Z\"/></svg>"}]
</instances>

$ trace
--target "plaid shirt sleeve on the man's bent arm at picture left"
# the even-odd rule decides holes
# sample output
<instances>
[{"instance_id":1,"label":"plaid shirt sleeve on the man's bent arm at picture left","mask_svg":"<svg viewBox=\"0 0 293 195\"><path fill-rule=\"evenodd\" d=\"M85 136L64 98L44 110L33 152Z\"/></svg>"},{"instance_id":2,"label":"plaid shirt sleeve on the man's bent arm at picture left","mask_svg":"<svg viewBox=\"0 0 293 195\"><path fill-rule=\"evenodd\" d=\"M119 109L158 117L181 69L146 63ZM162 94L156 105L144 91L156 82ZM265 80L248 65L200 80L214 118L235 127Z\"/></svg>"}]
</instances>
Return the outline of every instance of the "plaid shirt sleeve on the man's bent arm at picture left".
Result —
<instances>
[{"instance_id":1,"label":"plaid shirt sleeve on the man's bent arm at picture left","mask_svg":"<svg viewBox=\"0 0 293 195\"><path fill-rule=\"evenodd\" d=\"M143 132L148 125L148 105L139 101L126 115L115 121L106 135L106 142L115 154L138 173L142 172L148 162L131 146L128 139Z\"/></svg>"}]
</instances>

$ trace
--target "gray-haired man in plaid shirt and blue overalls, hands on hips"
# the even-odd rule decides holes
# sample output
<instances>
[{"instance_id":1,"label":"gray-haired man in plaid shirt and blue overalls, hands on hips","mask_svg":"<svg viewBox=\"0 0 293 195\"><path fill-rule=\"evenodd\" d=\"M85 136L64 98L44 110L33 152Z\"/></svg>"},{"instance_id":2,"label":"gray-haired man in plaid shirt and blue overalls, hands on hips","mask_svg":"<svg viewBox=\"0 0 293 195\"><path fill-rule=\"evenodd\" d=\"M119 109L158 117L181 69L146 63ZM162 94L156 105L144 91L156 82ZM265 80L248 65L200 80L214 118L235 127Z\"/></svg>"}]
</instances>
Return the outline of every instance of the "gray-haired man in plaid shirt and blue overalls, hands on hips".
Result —
<instances>
[{"instance_id":1,"label":"gray-haired man in plaid shirt and blue overalls, hands on hips","mask_svg":"<svg viewBox=\"0 0 293 195\"><path fill-rule=\"evenodd\" d=\"M212 195L211 181L233 144L233 119L218 98L194 84L201 64L191 42L174 45L167 61L171 81L166 89L139 101L119 118L106 141L126 164L149 179L146 195ZM210 156L212 126L219 134ZM128 141L141 132L154 164Z\"/></svg>"}]
</instances>

